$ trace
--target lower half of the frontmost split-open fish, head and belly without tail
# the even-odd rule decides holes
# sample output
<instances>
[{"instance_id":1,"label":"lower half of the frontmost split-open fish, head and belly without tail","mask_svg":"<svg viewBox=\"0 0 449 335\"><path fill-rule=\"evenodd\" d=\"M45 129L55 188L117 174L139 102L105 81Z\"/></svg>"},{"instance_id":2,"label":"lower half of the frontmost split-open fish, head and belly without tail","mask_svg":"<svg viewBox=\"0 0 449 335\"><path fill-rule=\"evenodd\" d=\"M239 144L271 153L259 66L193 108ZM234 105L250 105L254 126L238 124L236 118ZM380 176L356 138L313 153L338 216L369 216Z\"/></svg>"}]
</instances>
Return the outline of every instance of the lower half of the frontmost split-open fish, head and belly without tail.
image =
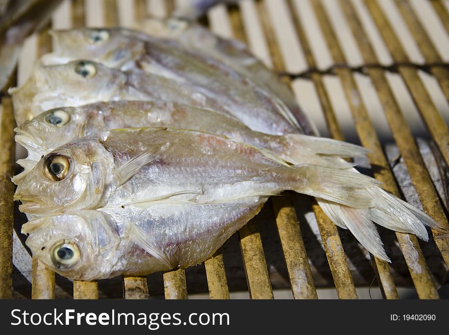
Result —
<instances>
[{"instance_id":1,"label":"lower half of the frontmost split-open fish, head and belly without tail","mask_svg":"<svg viewBox=\"0 0 449 335\"><path fill-rule=\"evenodd\" d=\"M29 221L22 233L29 234L26 243L33 255L63 276L92 280L146 275L208 259L259 212L265 200L55 214ZM70 259L58 257L61 248L73 251Z\"/></svg>"}]
</instances>

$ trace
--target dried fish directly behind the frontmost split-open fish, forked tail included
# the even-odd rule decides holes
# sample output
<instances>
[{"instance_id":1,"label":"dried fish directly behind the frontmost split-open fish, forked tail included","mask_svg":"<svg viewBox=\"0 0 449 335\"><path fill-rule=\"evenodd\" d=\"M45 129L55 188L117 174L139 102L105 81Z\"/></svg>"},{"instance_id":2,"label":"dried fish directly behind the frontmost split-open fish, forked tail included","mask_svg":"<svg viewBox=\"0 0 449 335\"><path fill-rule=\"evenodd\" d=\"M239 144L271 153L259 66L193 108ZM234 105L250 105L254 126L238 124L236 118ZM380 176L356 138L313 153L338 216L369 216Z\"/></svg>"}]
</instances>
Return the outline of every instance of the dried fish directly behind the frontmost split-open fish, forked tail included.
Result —
<instances>
[{"instance_id":1,"label":"dried fish directly behind the frontmost split-open fish, forked tail included","mask_svg":"<svg viewBox=\"0 0 449 335\"><path fill-rule=\"evenodd\" d=\"M234 117L209 109L160 100L110 101L52 109L17 127L15 140L27 148L29 156L17 161L24 171L12 181L18 184L42 155L58 146L86 136L99 136L113 128L128 127L171 127L224 135L268 150L292 165L307 162L345 168L352 164L336 157L358 157L367 153L362 147L332 139L254 132Z\"/></svg>"}]
</instances>

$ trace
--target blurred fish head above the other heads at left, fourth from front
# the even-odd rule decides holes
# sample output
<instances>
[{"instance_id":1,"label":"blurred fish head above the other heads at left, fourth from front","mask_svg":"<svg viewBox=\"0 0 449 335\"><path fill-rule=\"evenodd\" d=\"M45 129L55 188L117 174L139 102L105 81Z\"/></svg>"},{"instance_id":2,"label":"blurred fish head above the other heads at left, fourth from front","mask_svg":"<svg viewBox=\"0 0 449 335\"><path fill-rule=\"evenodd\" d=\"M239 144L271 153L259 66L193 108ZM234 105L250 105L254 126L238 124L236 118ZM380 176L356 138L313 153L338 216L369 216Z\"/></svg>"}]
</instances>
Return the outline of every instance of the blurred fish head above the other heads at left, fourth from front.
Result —
<instances>
[{"instance_id":1,"label":"blurred fish head above the other heads at left, fourth from front","mask_svg":"<svg viewBox=\"0 0 449 335\"><path fill-rule=\"evenodd\" d=\"M144 42L120 34L120 29L80 28L52 31L54 52L45 56L46 64L89 59L109 67L121 68L144 54Z\"/></svg>"}]
</instances>

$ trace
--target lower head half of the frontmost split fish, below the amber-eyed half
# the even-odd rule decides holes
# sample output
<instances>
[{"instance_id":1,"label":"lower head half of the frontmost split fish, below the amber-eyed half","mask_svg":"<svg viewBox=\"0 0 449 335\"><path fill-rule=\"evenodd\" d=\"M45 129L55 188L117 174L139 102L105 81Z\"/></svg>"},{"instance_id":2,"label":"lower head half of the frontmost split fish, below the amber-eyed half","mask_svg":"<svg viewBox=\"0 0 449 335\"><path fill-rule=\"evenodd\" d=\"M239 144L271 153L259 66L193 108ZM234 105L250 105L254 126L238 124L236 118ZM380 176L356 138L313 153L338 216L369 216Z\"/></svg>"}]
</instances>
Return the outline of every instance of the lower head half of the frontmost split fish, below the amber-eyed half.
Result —
<instances>
[{"instance_id":1,"label":"lower head half of the frontmost split fish, below the amber-eyed half","mask_svg":"<svg viewBox=\"0 0 449 335\"><path fill-rule=\"evenodd\" d=\"M44 216L24 224L22 234L34 257L68 278L108 277L121 258L116 225L99 211Z\"/></svg>"}]
</instances>

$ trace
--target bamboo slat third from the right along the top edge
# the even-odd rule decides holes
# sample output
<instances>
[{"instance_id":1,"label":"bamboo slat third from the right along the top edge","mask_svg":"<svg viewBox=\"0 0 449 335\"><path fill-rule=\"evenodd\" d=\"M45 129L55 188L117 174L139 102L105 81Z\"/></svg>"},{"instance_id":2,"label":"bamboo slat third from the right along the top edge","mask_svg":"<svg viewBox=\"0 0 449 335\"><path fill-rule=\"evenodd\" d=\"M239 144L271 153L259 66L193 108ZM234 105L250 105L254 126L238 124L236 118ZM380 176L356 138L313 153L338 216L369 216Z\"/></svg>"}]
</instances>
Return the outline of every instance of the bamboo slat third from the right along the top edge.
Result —
<instances>
[{"instance_id":1,"label":"bamboo slat third from the right along the top edge","mask_svg":"<svg viewBox=\"0 0 449 335\"><path fill-rule=\"evenodd\" d=\"M399 64L409 63L410 60L406 51L402 47L400 40L397 38L391 24L388 22L377 1L364 0L364 4L371 13L394 61ZM398 71L402 75L402 78L418 107L422 120L432 134L435 143L438 145L446 164L449 165L449 130L447 124L433 104L417 70L408 66L398 65Z\"/></svg>"}]
</instances>

